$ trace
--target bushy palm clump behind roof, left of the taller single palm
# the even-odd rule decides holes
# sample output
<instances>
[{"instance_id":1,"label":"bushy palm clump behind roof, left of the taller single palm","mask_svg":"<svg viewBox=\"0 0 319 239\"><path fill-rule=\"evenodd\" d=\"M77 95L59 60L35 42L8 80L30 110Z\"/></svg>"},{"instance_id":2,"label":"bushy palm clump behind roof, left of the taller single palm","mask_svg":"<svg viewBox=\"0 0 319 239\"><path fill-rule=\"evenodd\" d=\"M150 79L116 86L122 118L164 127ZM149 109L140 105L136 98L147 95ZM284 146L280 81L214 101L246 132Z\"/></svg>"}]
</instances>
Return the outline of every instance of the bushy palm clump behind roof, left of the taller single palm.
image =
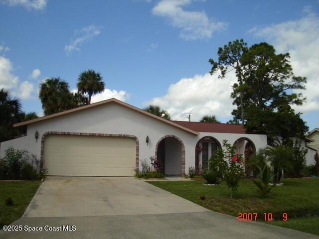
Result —
<instances>
[{"instance_id":1,"label":"bushy palm clump behind roof, left of the taller single palm","mask_svg":"<svg viewBox=\"0 0 319 239\"><path fill-rule=\"evenodd\" d=\"M41 83L39 97L46 116L85 104L85 97L71 93L69 84L60 78L50 78Z\"/></svg>"}]
</instances>

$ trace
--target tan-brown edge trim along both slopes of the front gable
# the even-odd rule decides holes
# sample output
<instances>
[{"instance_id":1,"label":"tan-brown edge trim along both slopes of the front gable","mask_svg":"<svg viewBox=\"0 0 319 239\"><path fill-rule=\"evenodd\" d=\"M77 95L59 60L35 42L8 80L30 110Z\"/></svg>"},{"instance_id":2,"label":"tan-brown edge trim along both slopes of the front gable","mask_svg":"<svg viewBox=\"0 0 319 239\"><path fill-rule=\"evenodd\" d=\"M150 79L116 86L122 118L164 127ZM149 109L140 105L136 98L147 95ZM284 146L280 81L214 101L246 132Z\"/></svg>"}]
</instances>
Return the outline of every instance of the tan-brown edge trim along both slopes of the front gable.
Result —
<instances>
[{"instance_id":1,"label":"tan-brown edge trim along both slopes of the front gable","mask_svg":"<svg viewBox=\"0 0 319 239\"><path fill-rule=\"evenodd\" d=\"M22 126L22 125L27 125L27 124L30 124L30 123L35 123L35 122L39 122L39 121L42 121L42 120L46 120L46 119L52 119L52 118L55 118L55 117L60 117L60 116L63 116L63 115L67 115L67 114L71 114L71 113L74 113L74 112L77 112L77 111L83 111L83 110L86 110L88 108L92 108L92 107L96 107L96 106L101 106L101 105L104 105L104 104L109 104L109 103L116 103L118 105L121 105L123 107L126 107L130 110L133 110L133 111L136 111L140 114L143 114L143 115L146 115L150 118L153 118L153 119L156 119L156 120L159 120L163 123L166 123L166 124L169 124L171 126L174 126L176 128L179 128L181 130L184 130L188 133L191 133L193 135L199 135L198 132L192 130L192 129L189 129L187 127L184 127L182 125L179 125L177 123L174 123L174 121L170 121L170 120L167 120L167 119L162 119L158 116L155 116L151 113L148 113L146 111L143 111L135 106L132 106L132 105L129 105L125 102L122 102L122 101L119 101L115 98L112 98L112 99L109 99L109 100L105 100L105 101L100 101L100 102L96 102L96 103L93 103L93 104L90 104L90 105L86 105L86 106L81 106L81 107L78 107L78 108L74 108L74 109L71 109L71 110L67 110L67 111L63 111L63 112L59 112L59 113L56 113L56 114L52 114L52 115L48 115L48 116L43 116L43 117L40 117L40 118L37 118L37 119L31 119L31 120L27 120L27 121L24 121L24 122L19 122L19 123L15 123L13 124L13 127L18 127L18 126Z\"/></svg>"}]
</instances>

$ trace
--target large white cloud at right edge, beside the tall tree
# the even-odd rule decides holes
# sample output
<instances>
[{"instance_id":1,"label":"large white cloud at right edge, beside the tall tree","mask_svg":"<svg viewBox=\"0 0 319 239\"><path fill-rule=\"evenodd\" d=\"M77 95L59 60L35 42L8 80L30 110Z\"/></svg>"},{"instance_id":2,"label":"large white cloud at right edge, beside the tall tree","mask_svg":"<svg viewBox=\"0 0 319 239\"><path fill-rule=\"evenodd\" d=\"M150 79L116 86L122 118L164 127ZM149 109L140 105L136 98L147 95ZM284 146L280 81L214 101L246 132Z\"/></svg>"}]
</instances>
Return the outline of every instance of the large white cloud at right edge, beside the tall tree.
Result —
<instances>
[{"instance_id":1,"label":"large white cloud at right edge, beside the tall tree","mask_svg":"<svg viewBox=\"0 0 319 239\"><path fill-rule=\"evenodd\" d=\"M266 38L278 52L289 52L294 74L307 77L307 89L301 91L307 103L294 106L296 111L305 113L319 111L319 15L309 6L303 12L306 15L298 20L254 27L250 32Z\"/></svg>"}]
</instances>

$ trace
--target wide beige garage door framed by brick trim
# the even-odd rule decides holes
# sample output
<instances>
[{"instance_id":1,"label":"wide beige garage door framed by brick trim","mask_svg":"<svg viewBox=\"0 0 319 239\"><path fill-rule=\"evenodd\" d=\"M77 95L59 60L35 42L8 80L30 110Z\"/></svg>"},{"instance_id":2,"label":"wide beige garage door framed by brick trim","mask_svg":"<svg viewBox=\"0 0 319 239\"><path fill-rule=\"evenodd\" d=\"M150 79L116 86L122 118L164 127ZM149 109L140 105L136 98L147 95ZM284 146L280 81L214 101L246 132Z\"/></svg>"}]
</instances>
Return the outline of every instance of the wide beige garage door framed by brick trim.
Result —
<instances>
[{"instance_id":1,"label":"wide beige garage door framed by brick trim","mask_svg":"<svg viewBox=\"0 0 319 239\"><path fill-rule=\"evenodd\" d=\"M133 176L136 140L129 137L47 135L44 167L56 176Z\"/></svg>"}]
</instances>

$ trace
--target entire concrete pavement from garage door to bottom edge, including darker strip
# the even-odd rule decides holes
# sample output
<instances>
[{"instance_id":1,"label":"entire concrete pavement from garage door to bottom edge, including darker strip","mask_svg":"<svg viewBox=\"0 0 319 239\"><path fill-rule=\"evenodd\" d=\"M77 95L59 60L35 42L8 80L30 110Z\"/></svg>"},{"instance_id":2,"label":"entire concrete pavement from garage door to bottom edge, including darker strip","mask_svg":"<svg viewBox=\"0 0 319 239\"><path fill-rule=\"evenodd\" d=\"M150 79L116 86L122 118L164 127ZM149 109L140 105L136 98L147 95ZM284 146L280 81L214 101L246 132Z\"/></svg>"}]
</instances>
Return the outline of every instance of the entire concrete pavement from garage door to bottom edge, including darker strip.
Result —
<instances>
[{"instance_id":1,"label":"entire concrete pavement from garage door to bottom edge, including darker strip","mask_svg":"<svg viewBox=\"0 0 319 239\"><path fill-rule=\"evenodd\" d=\"M48 177L2 239L319 239L215 213L135 178ZM75 226L26 232L25 226Z\"/></svg>"}]
</instances>

